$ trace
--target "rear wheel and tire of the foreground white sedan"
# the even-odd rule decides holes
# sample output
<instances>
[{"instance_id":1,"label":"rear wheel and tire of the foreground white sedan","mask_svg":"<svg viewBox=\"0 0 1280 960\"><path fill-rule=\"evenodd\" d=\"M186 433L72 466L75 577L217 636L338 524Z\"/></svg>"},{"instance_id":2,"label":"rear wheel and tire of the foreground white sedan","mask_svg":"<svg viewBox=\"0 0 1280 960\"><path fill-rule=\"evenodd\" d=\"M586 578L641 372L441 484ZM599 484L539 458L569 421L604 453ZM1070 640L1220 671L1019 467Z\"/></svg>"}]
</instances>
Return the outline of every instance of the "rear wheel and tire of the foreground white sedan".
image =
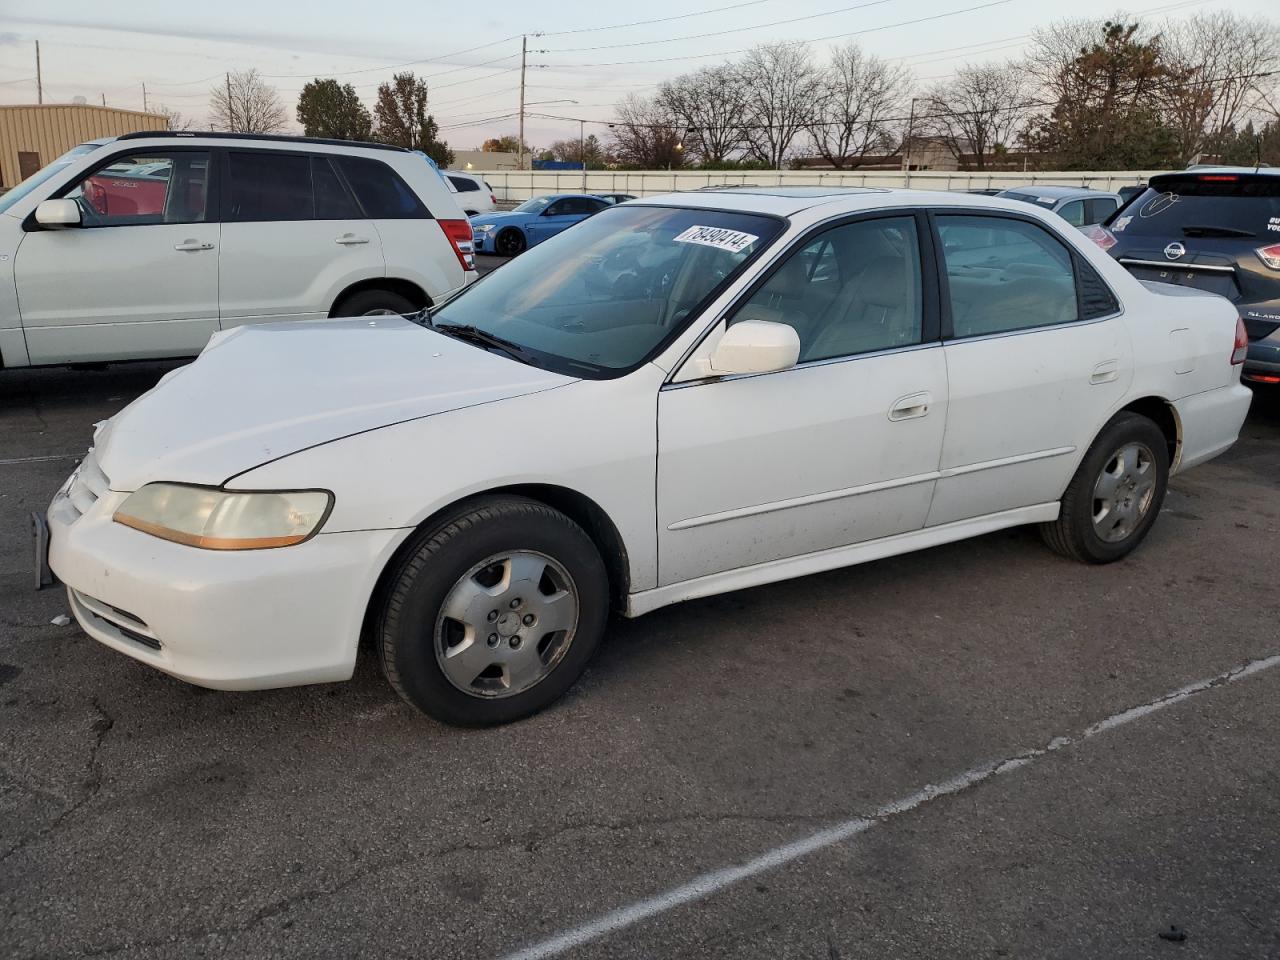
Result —
<instances>
[{"instance_id":1,"label":"rear wheel and tire of the foreground white sedan","mask_svg":"<svg viewBox=\"0 0 1280 960\"><path fill-rule=\"evenodd\" d=\"M1059 518L1041 524L1041 535L1064 557L1112 563L1147 536L1167 486L1164 431L1139 413L1117 413L1071 477Z\"/></svg>"}]
</instances>

